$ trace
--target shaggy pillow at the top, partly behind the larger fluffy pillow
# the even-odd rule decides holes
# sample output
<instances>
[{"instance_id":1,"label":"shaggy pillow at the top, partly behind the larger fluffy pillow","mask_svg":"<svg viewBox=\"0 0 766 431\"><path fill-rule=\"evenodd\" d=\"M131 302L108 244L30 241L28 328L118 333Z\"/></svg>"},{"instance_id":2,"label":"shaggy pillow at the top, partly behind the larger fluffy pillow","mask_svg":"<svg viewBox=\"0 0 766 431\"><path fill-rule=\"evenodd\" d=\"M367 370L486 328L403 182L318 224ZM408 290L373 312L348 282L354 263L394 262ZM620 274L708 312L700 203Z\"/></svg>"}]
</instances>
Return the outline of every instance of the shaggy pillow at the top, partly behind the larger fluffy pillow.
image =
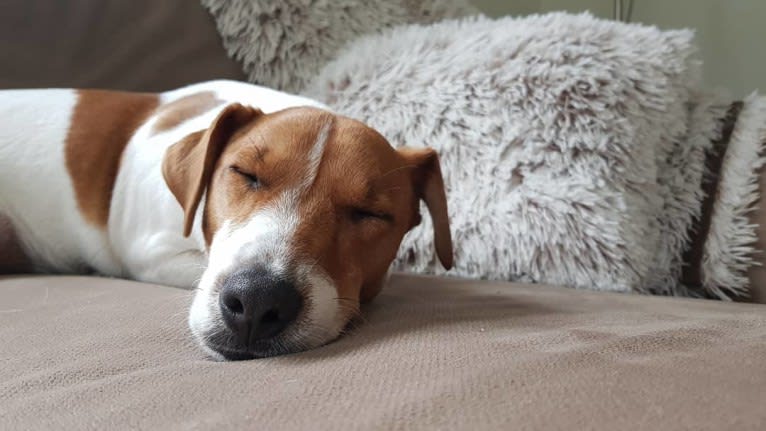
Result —
<instances>
[{"instance_id":1,"label":"shaggy pillow at the top, partly behind the larger fluffy pillow","mask_svg":"<svg viewBox=\"0 0 766 431\"><path fill-rule=\"evenodd\" d=\"M251 82L296 92L341 47L400 24L477 14L468 0L202 0Z\"/></svg>"}]
</instances>

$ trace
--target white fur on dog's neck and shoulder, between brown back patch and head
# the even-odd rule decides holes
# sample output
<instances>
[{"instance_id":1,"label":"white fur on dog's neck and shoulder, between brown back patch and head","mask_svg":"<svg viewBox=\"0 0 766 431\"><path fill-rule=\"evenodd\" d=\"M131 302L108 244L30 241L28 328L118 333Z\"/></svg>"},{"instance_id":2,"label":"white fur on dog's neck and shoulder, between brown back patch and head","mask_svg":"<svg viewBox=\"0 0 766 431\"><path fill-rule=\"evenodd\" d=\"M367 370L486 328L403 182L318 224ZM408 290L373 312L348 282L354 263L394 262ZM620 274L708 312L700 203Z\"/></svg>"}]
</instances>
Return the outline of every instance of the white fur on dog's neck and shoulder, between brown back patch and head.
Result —
<instances>
[{"instance_id":1,"label":"white fur on dog's neck and shoulder, between brown back patch and head","mask_svg":"<svg viewBox=\"0 0 766 431\"><path fill-rule=\"evenodd\" d=\"M234 81L191 85L164 93L161 100L169 103L204 91L212 91L228 103L251 105L266 113L292 106L323 107L310 99ZM184 238L182 210L165 187L162 159L170 145L207 128L226 104L157 135L151 133L155 121L152 118L125 149L114 187L109 233L129 277L187 288L199 280L206 258L201 217L195 218L192 235Z\"/></svg>"}]
</instances>

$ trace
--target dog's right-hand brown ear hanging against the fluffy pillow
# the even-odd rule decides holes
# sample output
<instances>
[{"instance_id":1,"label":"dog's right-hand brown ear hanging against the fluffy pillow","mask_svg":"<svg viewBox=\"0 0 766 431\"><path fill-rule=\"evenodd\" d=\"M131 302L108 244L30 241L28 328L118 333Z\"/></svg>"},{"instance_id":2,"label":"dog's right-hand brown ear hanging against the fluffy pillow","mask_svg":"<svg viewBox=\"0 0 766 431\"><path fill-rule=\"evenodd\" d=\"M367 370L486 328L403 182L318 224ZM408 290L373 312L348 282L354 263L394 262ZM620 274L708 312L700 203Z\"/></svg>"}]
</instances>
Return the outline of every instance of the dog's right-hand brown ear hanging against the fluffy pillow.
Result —
<instances>
[{"instance_id":1,"label":"dog's right-hand brown ear hanging against the fluffy pillow","mask_svg":"<svg viewBox=\"0 0 766 431\"><path fill-rule=\"evenodd\" d=\"M436 255L445 269L452 268L452 234L447 213L447 195L439 166L439 155L432 148L400 148L399 152L415 166L413 181L418 197L425 201L434 225Z\"/></svg>"}]
</instances>

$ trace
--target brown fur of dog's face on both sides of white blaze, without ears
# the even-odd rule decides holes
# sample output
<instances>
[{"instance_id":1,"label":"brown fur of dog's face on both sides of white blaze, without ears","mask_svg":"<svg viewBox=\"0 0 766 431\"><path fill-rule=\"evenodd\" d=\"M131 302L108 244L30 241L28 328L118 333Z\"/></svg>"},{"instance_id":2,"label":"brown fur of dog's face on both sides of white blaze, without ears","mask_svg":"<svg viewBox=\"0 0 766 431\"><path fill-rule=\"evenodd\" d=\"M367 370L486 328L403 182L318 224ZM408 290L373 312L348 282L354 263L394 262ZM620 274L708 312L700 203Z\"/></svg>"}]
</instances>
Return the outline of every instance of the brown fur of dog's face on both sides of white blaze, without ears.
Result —
<instances>
[{"instance_id":1,"label":"brown fur of dog's face on both sides of white blaze, without ears","mask_svg":"<svg viewBox=\"0 0 766 431\"><path fill-rule=\"evenodd\" d=\"M417 169L414 159L372 129L329 115L294 108L267 114L235 133L208 189L203 227L209 244L225 220L243 223L285 193L296 193L291 210L299 223L290 244L296 261L319 264L334 280L344 311L353 315L360 299L378 293L403 235L417 223ZM322 162L307 183L309 155L327 124L333 127ZM237 171L257 177L259 186L253 188ZM388 219L356 220L357 210Z\"/></svg>"}]
</instances>

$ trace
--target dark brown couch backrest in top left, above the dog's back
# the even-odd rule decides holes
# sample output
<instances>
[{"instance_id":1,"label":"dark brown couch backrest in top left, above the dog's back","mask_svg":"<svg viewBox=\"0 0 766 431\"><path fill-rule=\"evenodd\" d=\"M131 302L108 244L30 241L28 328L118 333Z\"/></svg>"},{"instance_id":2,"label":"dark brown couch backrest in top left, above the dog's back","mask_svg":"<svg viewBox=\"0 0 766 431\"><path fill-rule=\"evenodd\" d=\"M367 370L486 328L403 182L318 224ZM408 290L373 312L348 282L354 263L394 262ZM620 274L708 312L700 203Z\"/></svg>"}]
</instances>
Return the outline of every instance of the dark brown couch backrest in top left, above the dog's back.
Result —
<instances>
[{"instance_id":1,"label":"dark brown couch backrest in top left, above the dog's back","mask_svg":"<svg viewBox=\"0 0 766 431\"><path fill-rule=\"evenodd\" d=\"M0 88L159 91L244 79L191 0L3 0Z\"/></svg>"}]
</instances>

